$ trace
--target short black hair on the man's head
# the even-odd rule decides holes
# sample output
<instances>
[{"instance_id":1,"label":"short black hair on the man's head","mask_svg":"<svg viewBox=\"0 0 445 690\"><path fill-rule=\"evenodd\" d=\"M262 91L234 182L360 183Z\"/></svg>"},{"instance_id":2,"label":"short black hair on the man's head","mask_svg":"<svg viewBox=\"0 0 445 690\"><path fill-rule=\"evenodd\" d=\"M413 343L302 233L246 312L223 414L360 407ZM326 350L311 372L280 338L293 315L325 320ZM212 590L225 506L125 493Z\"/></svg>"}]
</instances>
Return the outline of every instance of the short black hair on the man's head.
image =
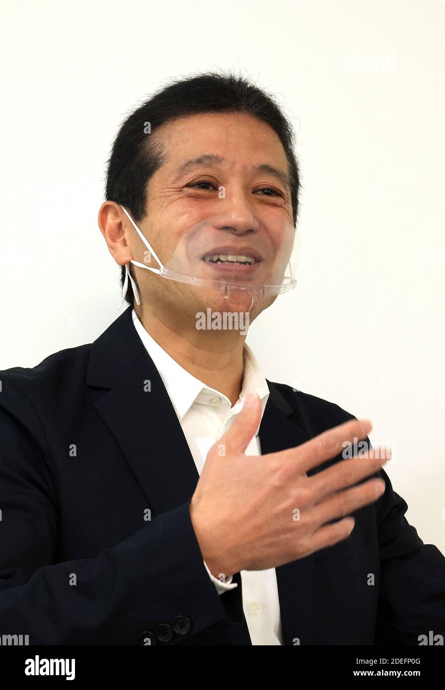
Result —
<instances>
[{"instance_id":1,"label":"short black hair on the man's head","mask_svg":"<svg viewBox=\"0 0 445 690\"><path fill-rule=\"evenodd\" d=\"M166 161L164 146L148 134L168 120L204 112L244 112L276 132L288 161L295 224L299 210L299 167L293 128L273 95L232 72L205 72L174 79L131 113L121 125L108 159L106 199L125 206L135 222L143 219L148 180ZM121 266L121 285L124 279L125 266ZM134 306L131 284L128 284L126 301Z\"/></svg>"}]
</instances>

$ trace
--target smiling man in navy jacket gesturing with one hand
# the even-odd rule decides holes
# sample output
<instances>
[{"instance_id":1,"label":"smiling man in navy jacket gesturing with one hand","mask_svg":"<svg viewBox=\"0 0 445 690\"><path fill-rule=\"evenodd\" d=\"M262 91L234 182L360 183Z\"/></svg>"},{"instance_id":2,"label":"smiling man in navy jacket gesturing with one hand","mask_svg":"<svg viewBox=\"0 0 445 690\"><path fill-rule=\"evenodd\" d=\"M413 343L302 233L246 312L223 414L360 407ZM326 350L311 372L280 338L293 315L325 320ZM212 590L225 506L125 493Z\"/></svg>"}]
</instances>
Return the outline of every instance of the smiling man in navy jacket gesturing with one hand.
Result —
<instances>
[{"instance_id":1,"label":"smiling man in navy jacket gesturing with one hand","mask_svg":"<svg viewBox=\"0 0 445 690\"><path fill-rule=\"evenodd\" d=\"M445 559L406 522L370 423L266 381L244 343L293 286L292 142L233 75L173 82L119 130L99 227L130 306L93 344L0 377L5 631L440 644Z\"/></svg>"}]
</instances>

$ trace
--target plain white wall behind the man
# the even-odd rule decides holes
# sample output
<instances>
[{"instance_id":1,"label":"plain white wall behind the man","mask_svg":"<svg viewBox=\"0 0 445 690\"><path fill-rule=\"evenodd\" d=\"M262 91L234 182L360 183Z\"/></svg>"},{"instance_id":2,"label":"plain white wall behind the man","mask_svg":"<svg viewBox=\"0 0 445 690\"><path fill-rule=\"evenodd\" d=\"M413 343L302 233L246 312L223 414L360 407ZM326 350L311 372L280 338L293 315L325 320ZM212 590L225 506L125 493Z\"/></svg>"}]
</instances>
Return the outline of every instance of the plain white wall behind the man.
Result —
<instances>
[{"instance_id":1,"label":"plain white wall behind the man","mask_svg":"<svg viewBox=\"0 0 445 690\"><path fill-rule=\"evenodd\" d=\"M441 0L1 2L0 368L118 315L97 227L119 124L168 77L242 70L299 126L299 284L253 325L266 376L369 417L445 553Z\"/></svg>"}]
</instances>

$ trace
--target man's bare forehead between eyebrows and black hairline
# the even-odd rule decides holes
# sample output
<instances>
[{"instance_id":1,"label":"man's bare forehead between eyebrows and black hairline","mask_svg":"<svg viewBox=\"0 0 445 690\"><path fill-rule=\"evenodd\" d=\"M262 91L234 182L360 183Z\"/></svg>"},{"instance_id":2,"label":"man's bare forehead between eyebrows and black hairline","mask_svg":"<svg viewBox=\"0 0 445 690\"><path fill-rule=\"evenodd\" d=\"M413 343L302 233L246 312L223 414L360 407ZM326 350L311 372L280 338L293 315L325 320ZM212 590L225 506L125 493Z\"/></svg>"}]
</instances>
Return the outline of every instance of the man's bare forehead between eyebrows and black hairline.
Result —
<instances>
[{"instance_id":1,"label":"man's bare forehead between eyebrows and black hairline","mask_svg":"<svg viewBox=\"0 0 445 690\"><path fill-rule=\"evenodd\" d=\"M180 117L159 127L155 138L166 149L166 166L162 167L172 168L184 159L211 152L226 159L228 166L266 162L288 169L276 132L246 113L205 112Z\"/></svg>"}]
</instances>

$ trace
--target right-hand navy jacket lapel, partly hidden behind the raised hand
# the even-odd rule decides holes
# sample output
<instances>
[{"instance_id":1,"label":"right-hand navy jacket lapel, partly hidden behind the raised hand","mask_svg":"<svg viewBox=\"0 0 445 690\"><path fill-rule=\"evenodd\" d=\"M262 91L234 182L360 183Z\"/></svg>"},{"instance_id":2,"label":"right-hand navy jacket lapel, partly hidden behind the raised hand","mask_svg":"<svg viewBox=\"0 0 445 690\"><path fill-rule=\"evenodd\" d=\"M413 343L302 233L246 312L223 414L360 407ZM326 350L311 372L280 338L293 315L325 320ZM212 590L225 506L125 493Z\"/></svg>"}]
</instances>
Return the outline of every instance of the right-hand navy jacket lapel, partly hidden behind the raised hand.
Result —
<instances>
[{"instance_id":1,"label":"right-hand navy jacket lapel, partly hidden behind the raised hand","mask_svg":"<svg viewBox=\"0 0 445 690\"><path fill-rule=\"evenodd\" d=\"M261 455L293 448L310 439L308 433L298 426L293 408L273 383L267 383L270 396L259 427ZM310 644L313 564L313 555L309 555L276 569L281 627L286 645Z\"/></svg>"}]
</instances>

